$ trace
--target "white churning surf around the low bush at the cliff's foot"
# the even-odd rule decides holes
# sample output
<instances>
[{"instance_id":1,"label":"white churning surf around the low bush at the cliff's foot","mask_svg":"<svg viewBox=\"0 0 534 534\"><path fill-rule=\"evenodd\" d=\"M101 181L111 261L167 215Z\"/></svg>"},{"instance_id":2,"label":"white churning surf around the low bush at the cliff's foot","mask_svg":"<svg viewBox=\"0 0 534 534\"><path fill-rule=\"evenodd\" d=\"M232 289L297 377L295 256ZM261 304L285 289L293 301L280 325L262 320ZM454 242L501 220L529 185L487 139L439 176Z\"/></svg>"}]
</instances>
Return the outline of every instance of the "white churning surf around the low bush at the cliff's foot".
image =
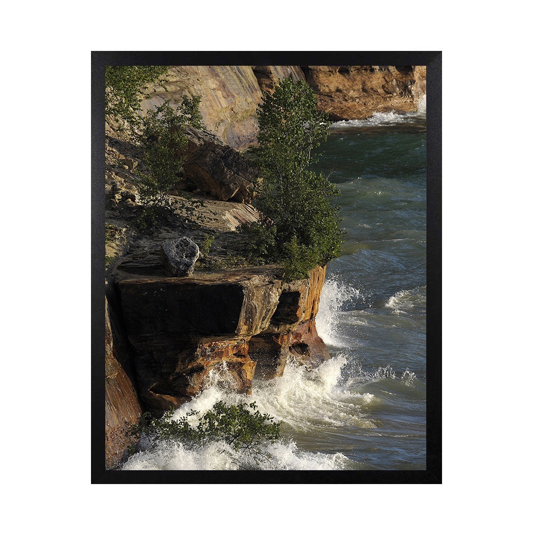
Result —
<instances>
[{"instance_id":1,"label":"white churning surf around the low bush at the cliff's foot","mask_svg":"<svg viewBox=\"0 0 534 534\"><path fill-rule=\"evenodd\" d=\"M179 407L173 419L183 417L190 410L200 412L191 416L191 425L211 409L218 400L235 404L255 402L262 413L269 413L275 421L284 421L282 441L264 449L265 462L261 469L356 469L356 462L341 453L310 452L298 447L293 433L313 433L332 428L376 428L373 421L362 414L361 407L375 402L372 394L347 391L339 384L341 370L347 364L343 356L327 360L315 370L294 363L286 365L284 374L254 385L250 396L223 391L218 386L206 388L197 397ZM242 451L235 452L223 442L190 449L178 442L158 443L151 449L134 454L123 469L242 469L257 468L254 459Z\"/></svg>"}]
</instances>

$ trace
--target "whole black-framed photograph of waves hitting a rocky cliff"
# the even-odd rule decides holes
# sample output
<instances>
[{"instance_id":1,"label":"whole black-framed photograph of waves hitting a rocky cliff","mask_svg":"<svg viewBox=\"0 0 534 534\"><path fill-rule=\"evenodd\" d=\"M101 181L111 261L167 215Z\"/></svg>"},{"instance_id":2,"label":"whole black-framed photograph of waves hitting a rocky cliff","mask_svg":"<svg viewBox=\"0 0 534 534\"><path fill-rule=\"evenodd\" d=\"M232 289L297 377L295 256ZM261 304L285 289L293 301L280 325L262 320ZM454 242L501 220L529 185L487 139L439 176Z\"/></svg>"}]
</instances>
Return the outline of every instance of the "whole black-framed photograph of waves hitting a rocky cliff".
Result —
<instances>
[{"instance_id":1,"label":"whole black-framed photograph of waves hitting a rocky cliff","mask_svg":"<svg viewBox=\"0 0 534 534\"><path fill-rule=\"evenodd\" d=\"M441 52L92 52L92 180L93 483L441 483Z\"/></svg>"}]
</instances>

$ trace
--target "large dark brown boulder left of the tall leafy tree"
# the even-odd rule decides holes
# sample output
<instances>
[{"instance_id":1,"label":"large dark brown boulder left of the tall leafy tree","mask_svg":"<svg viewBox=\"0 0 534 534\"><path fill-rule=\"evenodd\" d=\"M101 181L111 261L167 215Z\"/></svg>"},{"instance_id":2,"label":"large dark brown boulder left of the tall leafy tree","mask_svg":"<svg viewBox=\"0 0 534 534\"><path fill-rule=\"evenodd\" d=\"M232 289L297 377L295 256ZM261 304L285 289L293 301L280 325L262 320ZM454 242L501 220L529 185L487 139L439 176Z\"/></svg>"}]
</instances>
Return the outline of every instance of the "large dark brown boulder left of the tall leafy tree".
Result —
<instances>
[{"instance_id":1,"label":"large dark brown boulder left of the tall leafy tree","mask_svg":"<svg viewBox=\"0 0 534 534\"><path fill-rule=\"evenodd\" d=\"M253 197L258 170L213 133L187 128L184 179L216 200L244 202Z\"/></svg>"}]
</instances>

